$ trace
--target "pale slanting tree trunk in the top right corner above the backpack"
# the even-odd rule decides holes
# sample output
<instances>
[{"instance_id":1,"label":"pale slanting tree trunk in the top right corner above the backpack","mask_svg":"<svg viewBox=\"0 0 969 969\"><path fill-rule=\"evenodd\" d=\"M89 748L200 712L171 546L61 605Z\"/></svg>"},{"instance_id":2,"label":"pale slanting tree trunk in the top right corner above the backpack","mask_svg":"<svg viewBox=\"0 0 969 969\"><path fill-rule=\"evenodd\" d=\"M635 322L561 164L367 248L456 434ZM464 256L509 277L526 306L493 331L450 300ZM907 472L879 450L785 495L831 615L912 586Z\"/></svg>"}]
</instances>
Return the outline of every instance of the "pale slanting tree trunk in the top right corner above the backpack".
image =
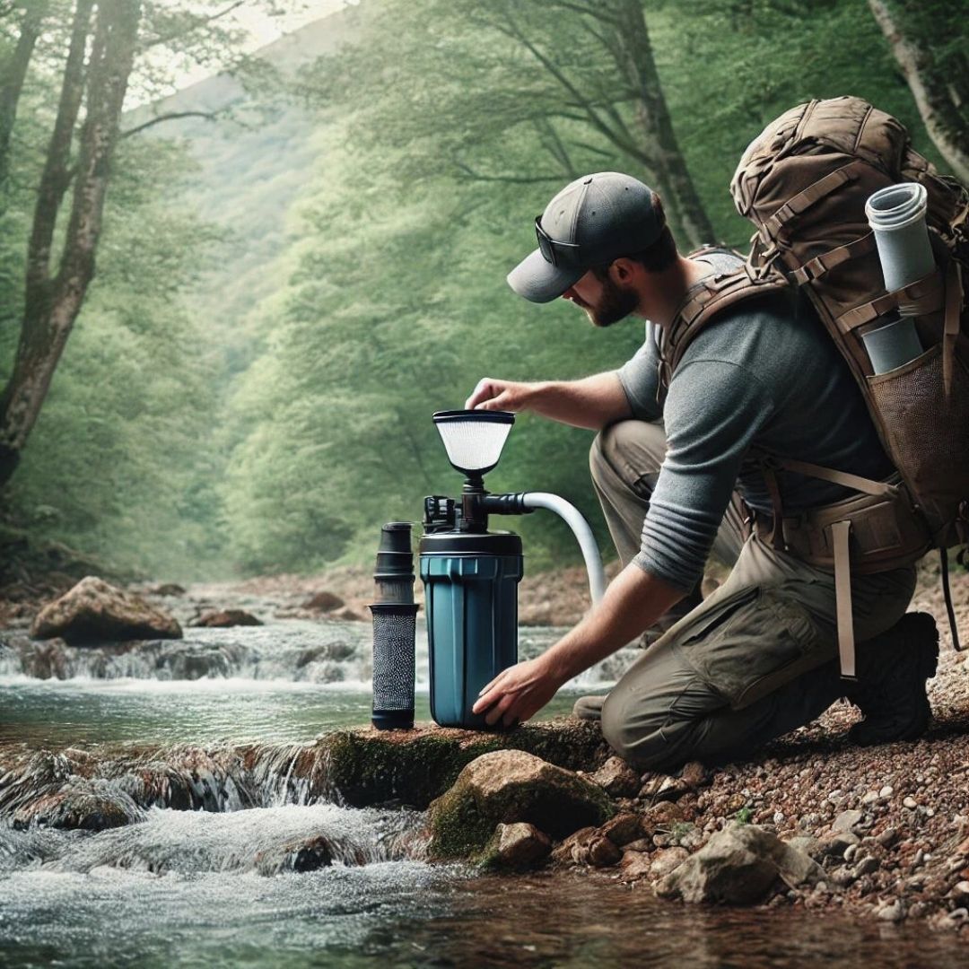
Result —
<instances>
[{"instance_id":1,"label":"pale slanting tree trunk in the top right corner above the backpack","mask_svg":"<svg viewBox=\"0 0 969 969\"><path fill-rule=\"evenodd\" d=\"M868 0L868 6L908 81L928 137L954 174L969 182L969 117L955 90L964 78L947 80L933 70L931 48L902 33L884 0Z\"/></svg>"}]
</instances>

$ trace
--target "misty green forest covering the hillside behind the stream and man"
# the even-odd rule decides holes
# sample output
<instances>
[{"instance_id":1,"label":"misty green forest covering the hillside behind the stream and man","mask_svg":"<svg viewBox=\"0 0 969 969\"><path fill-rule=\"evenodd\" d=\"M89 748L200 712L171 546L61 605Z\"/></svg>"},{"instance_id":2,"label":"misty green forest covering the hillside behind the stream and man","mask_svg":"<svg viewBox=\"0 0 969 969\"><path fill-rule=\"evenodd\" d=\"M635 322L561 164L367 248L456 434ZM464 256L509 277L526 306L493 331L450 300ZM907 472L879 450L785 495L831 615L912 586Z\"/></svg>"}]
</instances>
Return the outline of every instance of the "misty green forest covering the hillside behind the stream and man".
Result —
<instances>
[{"instance_id":1,"label":"misty green forest covering the hillside behind the stream and man","mask_svg":"<svg viewBox=\"0 0 969 969\"><path fill-rule=\"evenodd\" d=\"M854 94L969 177L965 0L360 0L255 51L239 6L0 3L8 548L172 579L369 561L458 490L433 411L640 345L505 284L583 172L649 183L684 250L742 250L744 147ZM185 64L209 80L178 90ZM605 548L590 440L526 415L488 485L564 495ZM539 517L530 568L577 561Z\"/></svg>"}]
</instances>

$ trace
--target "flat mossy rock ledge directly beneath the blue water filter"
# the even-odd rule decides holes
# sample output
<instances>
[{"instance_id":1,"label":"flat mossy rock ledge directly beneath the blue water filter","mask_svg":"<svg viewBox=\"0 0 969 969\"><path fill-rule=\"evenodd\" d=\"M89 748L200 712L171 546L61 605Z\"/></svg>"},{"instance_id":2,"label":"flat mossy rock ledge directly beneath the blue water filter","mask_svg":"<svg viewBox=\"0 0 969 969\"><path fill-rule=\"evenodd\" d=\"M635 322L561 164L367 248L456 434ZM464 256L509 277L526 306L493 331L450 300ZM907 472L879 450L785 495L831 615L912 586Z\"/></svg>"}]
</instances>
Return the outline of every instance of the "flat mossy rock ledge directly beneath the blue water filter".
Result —
<instances>
[{"instance_id":1,"label":"flat mossy rock ledge directly beneath the blue water filter","mask_svg":"<svg viewBox=\"0 0 969 969\"><path fill-rule=\"evenodd\" d=\"M396 801L424 808L466 765L496 750L527 751L570 770L595 770L609 753L598 724L563 719L505 733L423 725L413 731L339 731L322 737L303 760L315 775L318 796L353 807Z\"/></svg>"}]
</instances>

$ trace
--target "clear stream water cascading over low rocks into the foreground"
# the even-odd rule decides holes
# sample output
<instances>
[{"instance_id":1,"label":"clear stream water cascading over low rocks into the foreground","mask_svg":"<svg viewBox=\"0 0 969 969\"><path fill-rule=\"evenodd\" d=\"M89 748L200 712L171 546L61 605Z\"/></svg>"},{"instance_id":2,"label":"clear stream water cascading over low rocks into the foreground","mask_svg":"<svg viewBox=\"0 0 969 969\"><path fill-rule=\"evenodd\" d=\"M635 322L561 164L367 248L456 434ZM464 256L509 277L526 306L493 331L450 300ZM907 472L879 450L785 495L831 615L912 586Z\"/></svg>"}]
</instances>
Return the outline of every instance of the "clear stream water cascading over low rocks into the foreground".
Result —
<instances>
[{"instance_id":1,"label":"clear stream water cascading over low rocks into the foreground","mask_svg":"<svg viewBox=\"0 0 969 969\"><path fill-rule=\"evenodd\" d=\"M522 630L521 654L559 632ZM368 626L340 622L124 648L0 635L0 742L24 745L38 784L66 778L123 801L131 774L71 774L100 744L213 752L192 762L188 806L203 810L128 797L132 823L95 832L17 823L12 800L0 819L0 965L848 966L862 952L879 966L964 964L964 946L918 927L686 910L604 875L496 879L426 863L419 812L339 806L289 777L300 742L367 722L368 653ZM545 715L602 691L635 655L570 684ZM425 656L418 680L428 719ZM246 777L218 760L220 743L241 741L263 751Z\"/></svg>"}]
</instances>

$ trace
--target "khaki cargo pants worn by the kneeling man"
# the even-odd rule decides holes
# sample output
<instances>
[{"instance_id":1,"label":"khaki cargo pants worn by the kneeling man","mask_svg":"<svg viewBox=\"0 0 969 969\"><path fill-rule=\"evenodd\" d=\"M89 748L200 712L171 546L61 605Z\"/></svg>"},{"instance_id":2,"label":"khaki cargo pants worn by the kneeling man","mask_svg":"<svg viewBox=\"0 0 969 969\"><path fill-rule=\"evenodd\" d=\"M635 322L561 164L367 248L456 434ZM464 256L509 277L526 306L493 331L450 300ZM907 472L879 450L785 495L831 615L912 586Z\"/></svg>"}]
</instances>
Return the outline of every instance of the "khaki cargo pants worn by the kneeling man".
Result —
<instances>
[{"instance_id":1,"label":"khaki cargo pants worn by the kneeling man","mask_svg":"<svg viewBox=\"0 0 969 969\"><path fill-rule=\"evenodd\" d=\"M662 423L642 421L612 424L592 446L592 480L624 565L640 549L664 453ZM677 604L659 638L600 701L603 735L639 766L669 771L691 760L742 758L844 694L833 573L745 540L733 506L713 554L733 566L730 577L707 599L695 590ZM853 578L860 676L873 662L864 641L901 618L914 590L913 567ZM579 705L594 715L599 703Z\"/></svg>"}]
</instances>

